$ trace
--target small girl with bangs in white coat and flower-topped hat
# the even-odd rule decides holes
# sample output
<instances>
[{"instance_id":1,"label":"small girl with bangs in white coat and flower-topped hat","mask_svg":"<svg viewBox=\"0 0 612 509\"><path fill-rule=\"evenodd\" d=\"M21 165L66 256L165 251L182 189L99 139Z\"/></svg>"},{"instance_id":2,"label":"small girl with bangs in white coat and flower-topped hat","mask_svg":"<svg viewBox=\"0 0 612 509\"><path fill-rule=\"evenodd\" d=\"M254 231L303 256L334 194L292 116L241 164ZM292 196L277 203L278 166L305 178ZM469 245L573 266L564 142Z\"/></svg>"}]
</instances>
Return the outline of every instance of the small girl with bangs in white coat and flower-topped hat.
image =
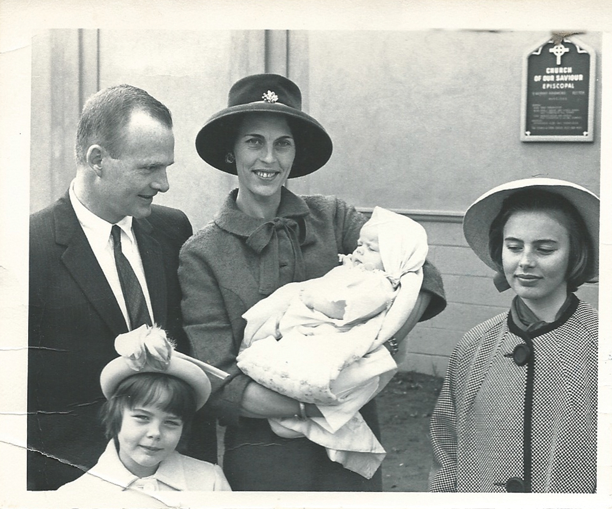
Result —
<instances>
[{"instance_id":1,"label":"small girl with bangs in white coat and flower-topped hat","mask_svg":"<svg viewBox=\"0 0 612 509\"><path fill-rule=\"evenodd\" d=\"M218 465L176 451L211 393L198 361L147 325L118 336L115 349L121 356L100 374L110 442L94 467L58 492L230 491Z\"/></svg>"}]
</instances>

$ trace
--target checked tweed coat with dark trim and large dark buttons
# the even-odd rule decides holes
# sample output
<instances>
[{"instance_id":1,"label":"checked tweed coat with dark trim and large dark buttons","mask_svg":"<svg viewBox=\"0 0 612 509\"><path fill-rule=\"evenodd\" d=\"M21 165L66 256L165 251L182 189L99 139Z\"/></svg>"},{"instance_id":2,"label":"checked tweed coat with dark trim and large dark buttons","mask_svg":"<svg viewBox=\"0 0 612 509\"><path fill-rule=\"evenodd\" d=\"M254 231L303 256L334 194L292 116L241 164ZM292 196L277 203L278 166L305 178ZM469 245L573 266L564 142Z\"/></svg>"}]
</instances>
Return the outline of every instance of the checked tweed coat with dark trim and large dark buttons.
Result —
<instances>
[{"instance_id":1,"label":"checked tweed coat with dark trim and large dark buttons","mask_svg":"<svg viewBox=\"0 0 612 509\"><path fill-rule=\"evenodd\" d=\"M556 322L531 333L532 492L595 490L597 327L594 307L572 295ZM523 484L528 368L512 352L525 337L503 313L455 348L431 416L430 491L504 492L509 480Z\"/></svg>"}]
</instances>

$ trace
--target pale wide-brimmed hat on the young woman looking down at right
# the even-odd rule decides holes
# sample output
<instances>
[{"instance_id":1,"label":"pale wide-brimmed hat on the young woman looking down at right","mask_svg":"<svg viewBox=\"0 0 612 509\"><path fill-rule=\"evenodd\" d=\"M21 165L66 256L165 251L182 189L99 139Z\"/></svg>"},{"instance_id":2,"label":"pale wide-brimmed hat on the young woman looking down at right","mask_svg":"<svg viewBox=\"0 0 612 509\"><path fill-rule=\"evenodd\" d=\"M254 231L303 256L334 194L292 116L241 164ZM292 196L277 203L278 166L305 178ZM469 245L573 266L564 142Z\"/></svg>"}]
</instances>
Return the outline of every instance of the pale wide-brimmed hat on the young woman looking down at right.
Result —
<instances>
[{"instance_id":1,"label":"pale wide-brimmed hat on the young woman looking down at right","mask_svg":"<svg viewBox=\"0 0 612 509\"><path fill-rule=\"evenodd\" d=\"M514 180L485 192L469 206L463 217L463 235L472 251L497 271L498 267L489 254L489 230L501 211L502 203L510 195L522 189L542 189L567 199L577 209L591 237L593 245L593 270L588 281L597 281L599 274L599 198L578 184L554 178L526 178Z\"/></svg>"}]
</instances>

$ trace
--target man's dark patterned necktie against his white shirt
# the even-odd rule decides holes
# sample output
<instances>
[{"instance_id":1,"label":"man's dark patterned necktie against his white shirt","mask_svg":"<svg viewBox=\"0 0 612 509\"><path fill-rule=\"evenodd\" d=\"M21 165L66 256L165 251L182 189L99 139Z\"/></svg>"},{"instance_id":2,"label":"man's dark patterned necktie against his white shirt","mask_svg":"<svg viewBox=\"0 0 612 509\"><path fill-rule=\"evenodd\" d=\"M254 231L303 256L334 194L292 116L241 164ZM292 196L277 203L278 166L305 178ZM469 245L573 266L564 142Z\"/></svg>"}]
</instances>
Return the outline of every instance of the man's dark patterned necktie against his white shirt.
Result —
<instances>
[{"instance_id":1,"label":"man's dark patterned necktie against his white shirt","mask_svg":"<svg viewBox=\"0 0 612 509\"><path fill-rule=\"evenodd\" d=\"M138 282L138 277L136 277L132 265L121 251L121 228L118 225L115 224L111 228L111 236L113 237L113 253L117 265L117 274L125 299L125 307L127 307L127 315L130 319L130 330L140 327L143 323L152 325L147 303L144 300L143 288Z\"/></svg>"}]
</instances>

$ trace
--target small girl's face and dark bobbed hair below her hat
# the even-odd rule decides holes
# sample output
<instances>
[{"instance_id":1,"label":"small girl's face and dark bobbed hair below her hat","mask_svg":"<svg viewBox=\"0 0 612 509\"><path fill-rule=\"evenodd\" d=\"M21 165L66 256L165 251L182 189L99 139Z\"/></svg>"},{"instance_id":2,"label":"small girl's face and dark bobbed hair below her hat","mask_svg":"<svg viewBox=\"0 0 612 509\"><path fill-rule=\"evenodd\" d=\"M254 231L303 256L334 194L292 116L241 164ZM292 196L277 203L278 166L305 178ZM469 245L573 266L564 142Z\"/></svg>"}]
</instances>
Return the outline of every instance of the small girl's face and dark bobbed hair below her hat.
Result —
<instances>
[{"instance_id":1,"label":"small girl's face and dark bobbed hair below her hat","mask_svg":"<svg viewBox=\"0 0 612 509\"><path fill-rule=\"evenodd\" d=\"M102 423L124 466L146 477L188 434L195 412L193 388L187 382L145 372L119 383L103 406Z\"/></svg>"}]
</instances>

